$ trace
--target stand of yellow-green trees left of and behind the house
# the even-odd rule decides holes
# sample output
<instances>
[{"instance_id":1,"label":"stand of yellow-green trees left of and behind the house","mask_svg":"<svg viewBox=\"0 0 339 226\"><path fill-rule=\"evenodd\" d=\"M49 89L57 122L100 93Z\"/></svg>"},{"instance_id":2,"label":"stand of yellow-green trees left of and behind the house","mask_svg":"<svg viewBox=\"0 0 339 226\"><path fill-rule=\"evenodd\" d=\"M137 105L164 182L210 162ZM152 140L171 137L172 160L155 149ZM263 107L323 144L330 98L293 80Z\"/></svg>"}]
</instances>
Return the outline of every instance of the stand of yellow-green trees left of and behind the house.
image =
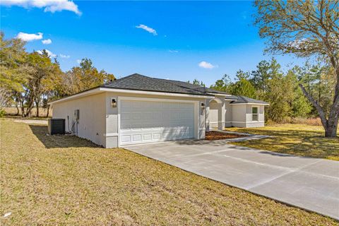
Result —
<instances>
[{"instance_id":1,"label":"stand of yellow-green trees left of and behind the house","mask_svg":"<svg viewBox=\"0 0 339 226\"><path fill-rule=\"evenodd\" d=\"M48 102L66 95L93 88L110 80L114 75L98 71L90 59L83 59L80 66L71 71L61 71L57 59L50 59L46 50L25 51L25 42L20 39L4 39L0 35L0 112L5 105L16 104L18 113L28 117L32 108L47 108Z\"/></svg>"}]
</instances>

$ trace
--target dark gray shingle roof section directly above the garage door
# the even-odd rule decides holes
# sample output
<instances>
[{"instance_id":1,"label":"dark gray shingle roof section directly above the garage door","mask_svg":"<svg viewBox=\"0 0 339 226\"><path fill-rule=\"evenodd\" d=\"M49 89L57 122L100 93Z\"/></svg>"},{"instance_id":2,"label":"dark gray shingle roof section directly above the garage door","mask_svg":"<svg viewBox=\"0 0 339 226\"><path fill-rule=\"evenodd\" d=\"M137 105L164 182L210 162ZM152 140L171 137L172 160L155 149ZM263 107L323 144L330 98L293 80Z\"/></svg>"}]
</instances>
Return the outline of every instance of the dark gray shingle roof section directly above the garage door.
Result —
<instances>
[{"instance_id":1,"label":"dark gray shingle roof section directly above the garage door","mask_svg":"<svg viewBox=\"0 0 339 226\"><path fill-rule=\"evenodd\" d=\"M105 88L117 88L125 90L145 90L165 93L184 93L191 95L208 95L208 93L222 93L210 88L204 88L199 85L185 83L182 81L173 81L161 78L150 78L134 73L131 76L119 78L112 82L102 85ZM226 93L222 93L226 94Z\"/></svg>"}]
</instances>

